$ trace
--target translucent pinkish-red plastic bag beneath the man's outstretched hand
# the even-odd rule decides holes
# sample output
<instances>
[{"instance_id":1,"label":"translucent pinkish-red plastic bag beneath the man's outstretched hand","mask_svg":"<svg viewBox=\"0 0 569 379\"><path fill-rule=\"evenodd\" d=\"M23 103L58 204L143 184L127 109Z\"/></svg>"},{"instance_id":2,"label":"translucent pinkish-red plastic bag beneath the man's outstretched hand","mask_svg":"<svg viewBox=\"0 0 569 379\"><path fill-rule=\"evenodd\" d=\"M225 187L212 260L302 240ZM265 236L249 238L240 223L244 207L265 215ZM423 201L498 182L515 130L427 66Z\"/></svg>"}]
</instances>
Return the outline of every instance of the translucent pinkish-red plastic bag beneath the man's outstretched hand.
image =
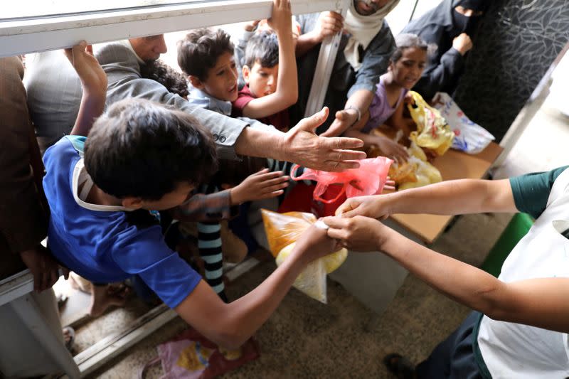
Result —
<instances>
[{"instance_id":1,"label":"translucent pinkish-red plastic bag beneath the man's outstretched hand","mask_svg":"<svg viewBox=\"0 0 569 379\"><path fill-rule=\"evenodd\" d=\"M344 193L346 193L347 198L381 193L383 186L385 186L385 181L387 181L389 166L393 161L385 158L385 156L378 156L376 158L360 159L358 162L360 166L357 169L341 172L304 169L304 174L297 177L295 175L299 166L295 164L292 166L290 177L295 181L304 179L317 181L318 184L314 188L312 196L314 200L325 204L338 201ZM333 184L341 185L341 190L338 191L335 198L323 198L322 196L326 189Z\"/></svg>"}]
</instances>

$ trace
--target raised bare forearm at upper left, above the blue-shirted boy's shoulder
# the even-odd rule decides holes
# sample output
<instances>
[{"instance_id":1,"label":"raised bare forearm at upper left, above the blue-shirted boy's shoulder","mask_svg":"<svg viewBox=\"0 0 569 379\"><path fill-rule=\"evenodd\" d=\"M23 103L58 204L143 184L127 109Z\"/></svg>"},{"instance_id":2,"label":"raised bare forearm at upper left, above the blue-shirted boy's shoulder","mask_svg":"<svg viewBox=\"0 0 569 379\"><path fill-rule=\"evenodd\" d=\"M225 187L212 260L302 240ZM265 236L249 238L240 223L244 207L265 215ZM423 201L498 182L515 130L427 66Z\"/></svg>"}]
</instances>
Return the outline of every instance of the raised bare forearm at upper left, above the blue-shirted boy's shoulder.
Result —
<instances>
[{"instance_id":1,"label":"raised bare forearm at upper left, above the blue-shirted boy's shoulder","mask_svg":"<svg viewBox=\"0 0 569 379\"><path fill-rule=\"evenodd\" d=\"M73 48L66 48L65 55L79 75L83 87L79 113L70 134L87 136L95 119L105 110L107 75L93 56L92 46L85 41Z\"/></svg>"}]
</instances>

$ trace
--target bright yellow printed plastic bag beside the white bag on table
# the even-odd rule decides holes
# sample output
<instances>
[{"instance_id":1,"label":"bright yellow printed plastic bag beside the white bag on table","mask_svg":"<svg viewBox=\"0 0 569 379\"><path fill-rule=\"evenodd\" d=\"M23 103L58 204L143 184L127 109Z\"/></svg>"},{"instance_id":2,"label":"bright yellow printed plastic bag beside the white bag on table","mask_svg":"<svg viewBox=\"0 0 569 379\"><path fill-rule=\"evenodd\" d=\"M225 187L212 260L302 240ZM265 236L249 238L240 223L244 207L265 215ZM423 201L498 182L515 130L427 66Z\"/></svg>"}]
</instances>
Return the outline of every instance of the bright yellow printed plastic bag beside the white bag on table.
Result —
<instances>
[{"instance_id":1,"label":"bright yellow printed plastic bag beside the white bag on table","mask_svg":"<svg viewBox=\"0 0 569 379\"><path fill-rule=\"evenodd\" d=\"M417 124L417 131L411 132L409 139L420 147L435 151L438 155L445 154L454 139L454 133L447 120L441 116L439 110L428 105L417 92L409 93L413 97L413 102L407 107Z\"/></svg>"}]
</instances>

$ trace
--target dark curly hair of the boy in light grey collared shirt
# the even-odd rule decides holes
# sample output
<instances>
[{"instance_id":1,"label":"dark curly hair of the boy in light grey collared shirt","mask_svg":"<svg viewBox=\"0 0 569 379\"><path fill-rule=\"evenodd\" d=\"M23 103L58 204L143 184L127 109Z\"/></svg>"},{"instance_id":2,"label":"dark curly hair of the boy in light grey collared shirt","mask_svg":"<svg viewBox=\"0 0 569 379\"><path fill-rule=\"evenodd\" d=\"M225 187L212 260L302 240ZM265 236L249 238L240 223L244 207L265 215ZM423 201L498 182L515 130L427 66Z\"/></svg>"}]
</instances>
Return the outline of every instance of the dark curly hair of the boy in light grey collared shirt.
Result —
<instances>
[{"instance_id":1,"label":"dark curly hair of the boy in light grey collared shirt","mask_svg":"<svg viewBox=\"0 0 569 379\"><path fill-rule=\"evenodd\" d=\"M233 54L230 36L222 29L195 29L178 41L178 65L186 75L199 80L208 78L208 70L216 66L223 53Z\"/></svg>"}]
</instances>

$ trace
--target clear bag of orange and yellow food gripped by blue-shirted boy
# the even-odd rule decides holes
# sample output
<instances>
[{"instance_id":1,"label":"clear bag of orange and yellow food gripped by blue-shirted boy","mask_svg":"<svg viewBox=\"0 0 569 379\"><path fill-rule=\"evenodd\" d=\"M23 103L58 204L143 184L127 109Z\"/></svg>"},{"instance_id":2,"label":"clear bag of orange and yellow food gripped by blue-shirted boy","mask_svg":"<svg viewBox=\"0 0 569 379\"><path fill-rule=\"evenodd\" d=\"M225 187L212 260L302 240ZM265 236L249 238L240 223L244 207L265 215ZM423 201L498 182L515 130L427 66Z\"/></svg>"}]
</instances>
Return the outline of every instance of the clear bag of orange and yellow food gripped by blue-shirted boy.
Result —
<instances>
[{"instance_id":1,"label":"clear bag of orange and yellow food gripped by blue-shirted boy","mask_svg":"<svg viewBox=\"0 0 569 379\"><path fill-rule=\"evenodd\" d=\"M294 249L294 243L317 221L312 213L277 213L262 209L262 220L269 247L277 266L280 266ZM348 257L348 250L341 249L326 257L314 260L299 274L292 286L326 304L326 274L340 267Z\"/></svg>"}]
</instances>

